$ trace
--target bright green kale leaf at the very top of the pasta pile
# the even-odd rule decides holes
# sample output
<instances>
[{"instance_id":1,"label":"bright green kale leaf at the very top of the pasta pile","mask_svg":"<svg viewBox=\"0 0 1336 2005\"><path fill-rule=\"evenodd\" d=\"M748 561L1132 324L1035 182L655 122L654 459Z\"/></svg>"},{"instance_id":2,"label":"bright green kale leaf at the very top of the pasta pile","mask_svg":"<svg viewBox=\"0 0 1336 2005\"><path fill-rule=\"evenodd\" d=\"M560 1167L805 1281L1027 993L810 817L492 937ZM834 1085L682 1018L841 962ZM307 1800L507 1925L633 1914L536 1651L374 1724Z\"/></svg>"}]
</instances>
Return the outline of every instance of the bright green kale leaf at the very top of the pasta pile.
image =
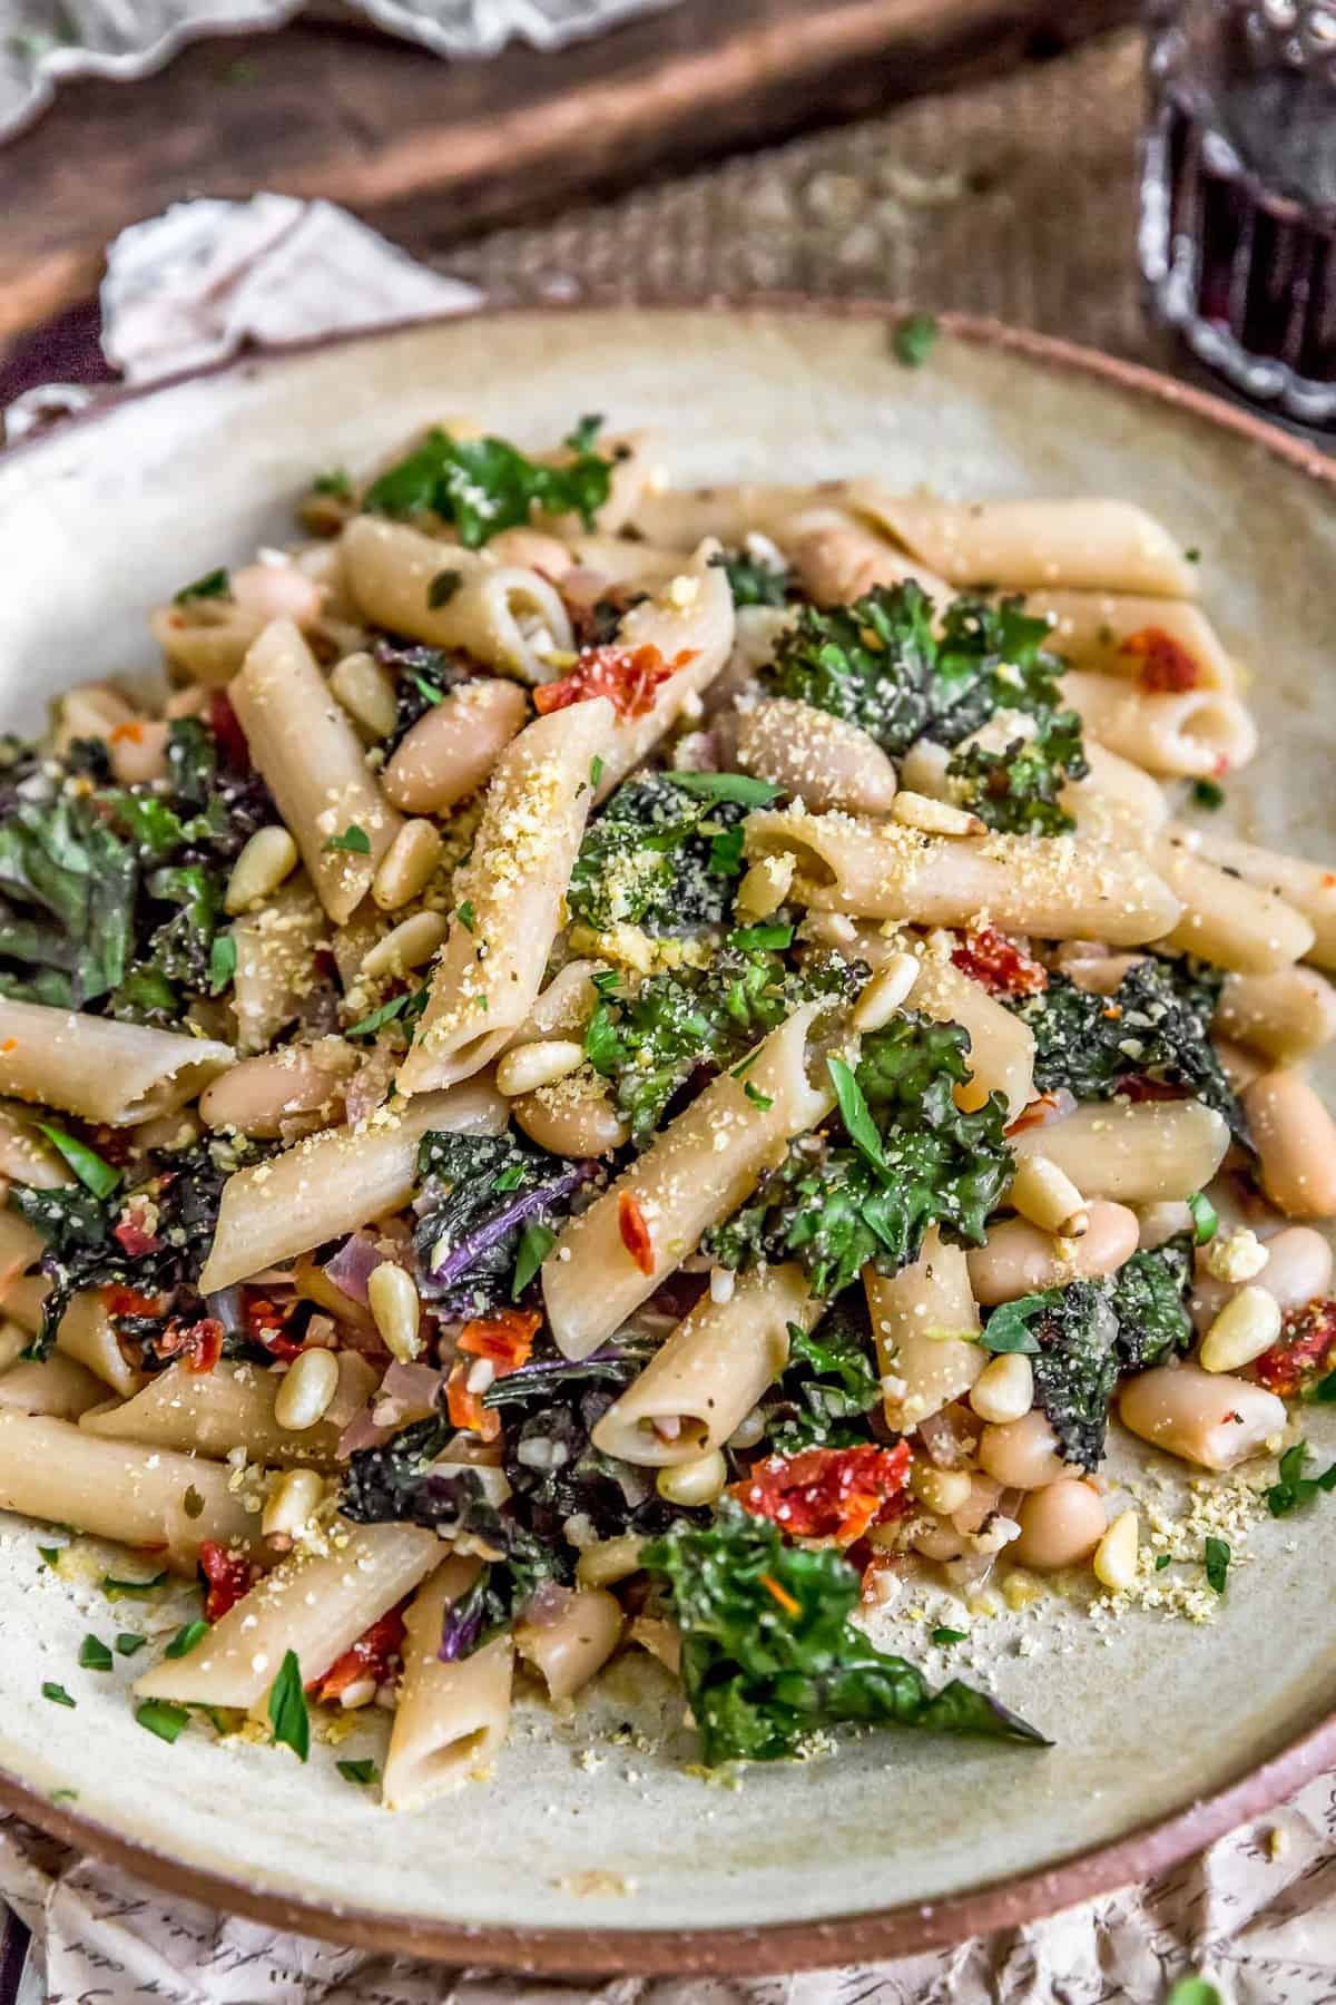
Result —
<instances>
[{"instance_id":1,"label":"bright green kale leaf at the very top of the pasta pile","mask_svg":"<svg viewBox=\"0 0 1336 2005\"><path fill-rule=\"evenodd\" d=\"M569 459L547 465L505 439L453 439L433 425L407 459L371 483L363 507L397 517L431 511L455 523L465 549L527 527L537 511L573 513L593 529L613 475L613 459L591 449L597 431L599 419L583 419L565 441Z\"/></svg>"}]
</instances>

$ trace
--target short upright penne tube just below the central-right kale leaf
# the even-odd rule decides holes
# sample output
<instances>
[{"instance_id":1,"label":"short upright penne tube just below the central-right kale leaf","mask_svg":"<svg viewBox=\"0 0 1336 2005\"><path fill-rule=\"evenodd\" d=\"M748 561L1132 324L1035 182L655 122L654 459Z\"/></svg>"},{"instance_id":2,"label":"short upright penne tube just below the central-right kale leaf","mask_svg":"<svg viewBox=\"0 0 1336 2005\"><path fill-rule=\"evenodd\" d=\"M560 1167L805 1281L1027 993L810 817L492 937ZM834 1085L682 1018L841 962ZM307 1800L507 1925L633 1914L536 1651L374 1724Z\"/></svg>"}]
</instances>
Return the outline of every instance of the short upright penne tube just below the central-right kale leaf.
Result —
<instances>
[{"instance_id":1,"label":"short upright penne tube just below the central-right kale leaf","mask_svg":"<svg viewBox=\"0 0 1336 2005\"><path fill-rule=\"evenodd\" d=\"M965 1253L945 1245L933 1225L919 1257L899 1273L863 1267L863 1289L885 1424L907 1434L963 1397L987 1363Z\"/></svg>"}]
</instances>

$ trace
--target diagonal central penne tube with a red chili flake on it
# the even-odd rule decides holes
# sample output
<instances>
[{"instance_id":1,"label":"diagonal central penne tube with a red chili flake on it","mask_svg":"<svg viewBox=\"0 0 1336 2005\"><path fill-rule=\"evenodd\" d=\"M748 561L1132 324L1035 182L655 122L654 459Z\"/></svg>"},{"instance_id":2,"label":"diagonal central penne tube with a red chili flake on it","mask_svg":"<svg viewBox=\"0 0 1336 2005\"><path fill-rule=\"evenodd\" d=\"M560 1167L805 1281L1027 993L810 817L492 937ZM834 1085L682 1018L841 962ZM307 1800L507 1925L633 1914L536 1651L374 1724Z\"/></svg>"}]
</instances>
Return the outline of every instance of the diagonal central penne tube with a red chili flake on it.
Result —
<instances>
[{"instance_id":1,"label":"diagonal central penne tube with a red chili flake on it","mask_svg":"<svg viewBox=\"0 0 1336 2005\"><path fill-rule=\"evenodd\" d=\"M543 1261L547 1319L565 1357L587 1357L695 1251L701 1233L737 1211L783 1145L815 1127L835 1089L807 1079L817 1002L793 1011L721 1073L577 1219Z\"/></svg>"}]
</instances>

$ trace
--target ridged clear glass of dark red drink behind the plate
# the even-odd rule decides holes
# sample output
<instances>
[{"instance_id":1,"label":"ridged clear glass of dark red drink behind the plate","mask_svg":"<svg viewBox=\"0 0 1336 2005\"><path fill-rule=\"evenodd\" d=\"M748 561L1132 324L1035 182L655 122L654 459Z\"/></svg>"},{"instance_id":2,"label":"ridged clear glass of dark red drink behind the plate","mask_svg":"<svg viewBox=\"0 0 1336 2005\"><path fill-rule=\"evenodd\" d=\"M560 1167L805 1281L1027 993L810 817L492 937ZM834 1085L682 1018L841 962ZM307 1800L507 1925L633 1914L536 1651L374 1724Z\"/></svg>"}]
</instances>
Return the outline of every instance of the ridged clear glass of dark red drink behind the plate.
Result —
<instances>
[{"instance_id":1,"label":"ridged clear glass of dark red drink behind the plate","mask_svg":"<svg viewBox=\"0 0 1336 2005\"><path fill-rule=\"evenodd\" d=\"M1336 0L1156 0L1152 311L1252 401L1336 431Z\"/></svg>"}]
</instances>

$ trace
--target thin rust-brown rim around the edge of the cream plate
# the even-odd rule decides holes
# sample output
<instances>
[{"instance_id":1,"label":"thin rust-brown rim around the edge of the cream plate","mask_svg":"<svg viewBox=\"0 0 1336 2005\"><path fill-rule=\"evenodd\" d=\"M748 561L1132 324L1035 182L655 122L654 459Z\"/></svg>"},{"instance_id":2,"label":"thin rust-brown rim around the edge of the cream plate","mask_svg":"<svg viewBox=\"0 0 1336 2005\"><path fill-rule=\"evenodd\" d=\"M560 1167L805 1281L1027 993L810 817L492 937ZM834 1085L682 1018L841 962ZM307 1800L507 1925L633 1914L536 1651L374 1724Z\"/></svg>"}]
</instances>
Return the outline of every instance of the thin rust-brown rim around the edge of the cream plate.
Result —
<instances>
[{"instance_id":1,"label":"thin rust-brown rim around the edge of the cream plate","mask_svg":"<svg viewBox=\"0 0 1336 2005\"><path fill-rule=\"evenodd\" d=\"M869 319L891 323L909 311L905 305L867 299L813 301L795 295L747 293L733 299L665 299L623 303L561 303L553 307L483 309L485 317L517 319L541 313L791 313L811 319ZM262 355L248 355L208 369L184 371L134 391L116 391L92 407L58 421L80 427L96 423L110 411L124 409L140 397L156 395L180 383L214 375L248 373L274 363L314 355L328 347L349 347L407 333L411 327L449 325L477 315L441 315L429 321L397 321L391 327L316 335L286 343ZM1120 361L1084 349L1052 335L1004 327L999 321L961 313L937 315L941 329L961 341L995 347L1032 361L1046 363L1102 383L1114 383L1150 403L1186 411L1192 417L1232 433L1240 443L1260 447L1308 475L1328 495L1336 495L1336 459L1290 437L1264 417L1240 411L1208 391L1176 383L1140 363ZM4 457L40 451L50 431L20 439ZM1336 1766L1336 1712L1300 1734L1260 1766L1234 1778L1212 1796L1140 1825L1110 1845L1074 1853L1052 1867L1018 1873L955 1893L943 1901L909 1903L861 1915L839 1915L825 1921L765 1925L757 1929L471 1929L431 1917L369 1913L357 1907L326 1907L282 1893L266 1893L244 1881L230 1879L206 1867L170 1859L150 1845L124 1839L94 1819L80 1817L64 1804L36 1794L18 1776L0 1770L0 1804L126 1873L138 1873L164 1893L202 1901L210 1907L246 1915L274 1929L353 1943L361 1949L427 1957L441 1963L483 1963L509 1971L537 1971L553 1977L633 1975L759 1975L773 1971L817 1969L839 1963L871 1963L889 1957L915 1955L959 1943L971 1935L991 1935L1014 1929L1042 1915L1090 1901L1132 1881L1146 1881L1178 1865L1190 1853L1202 1851L1214 1839L1272 1811L1310 1776Z\"/></svg>"}]
</instances>

